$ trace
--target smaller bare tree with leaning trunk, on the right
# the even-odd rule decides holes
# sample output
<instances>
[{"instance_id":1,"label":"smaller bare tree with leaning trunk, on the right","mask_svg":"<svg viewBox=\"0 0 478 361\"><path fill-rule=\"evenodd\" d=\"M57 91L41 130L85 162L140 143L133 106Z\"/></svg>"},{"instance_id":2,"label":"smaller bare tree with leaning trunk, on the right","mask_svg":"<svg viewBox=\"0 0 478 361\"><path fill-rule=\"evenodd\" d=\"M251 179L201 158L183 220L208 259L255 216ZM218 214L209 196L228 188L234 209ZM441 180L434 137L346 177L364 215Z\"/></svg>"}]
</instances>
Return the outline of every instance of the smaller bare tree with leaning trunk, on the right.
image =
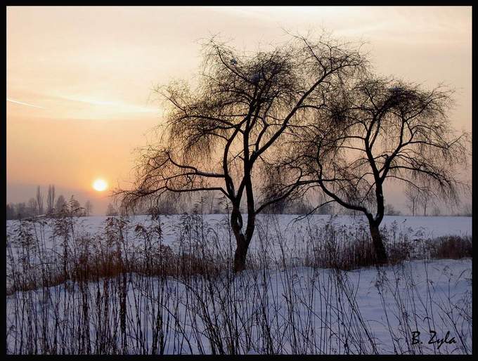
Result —
<instances>
[{"instance_id":1,"label":"smaller bare tree with leaning trunk, on the right","mask_svg":"<svg viewBox=\"0 0 478 361\"><path fill-rule=\"evenodd\" d=\"M302 183L368 218L378 263L387 262L379 226L386 180L427 183L430 195L458 199L457 166L466 164L467 133L456 135L447 110L451 93L403 81L343 79L310 124L295 129L280 164L299 169Z\"/></svg>"}]
</instances>

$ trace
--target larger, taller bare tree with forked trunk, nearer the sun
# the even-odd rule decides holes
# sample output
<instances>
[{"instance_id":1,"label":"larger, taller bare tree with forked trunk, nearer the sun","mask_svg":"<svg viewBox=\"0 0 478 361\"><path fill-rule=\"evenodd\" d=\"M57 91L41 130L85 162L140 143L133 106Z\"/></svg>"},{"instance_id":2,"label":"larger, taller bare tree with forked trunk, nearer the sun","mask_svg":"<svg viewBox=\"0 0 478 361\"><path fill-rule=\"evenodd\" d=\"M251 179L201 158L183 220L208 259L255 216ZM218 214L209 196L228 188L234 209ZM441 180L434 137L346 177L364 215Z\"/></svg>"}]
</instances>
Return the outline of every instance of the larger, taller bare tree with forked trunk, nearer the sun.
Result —
<instances>
[{"instance_id":1,"label":"larger, taller bare tree with forked trunk, nearer the sun","mask_svg":"<svg viewBox=\"0 0 478 361\"><path fill-rule=\"evenodd\" d=\"M242 55L210 41L194 90L182 82L157 89L169 105L167 128L160 145L143 151L134 189L117 192L122 204L165 192L221 192L232 206L233 268L244 270L257 214L292 192L258 199L254 178L260 181L273 145L290 125L321 104L332 82L362 64L359 51L325 37L293 38Z\"/></svg>"}]
</instances>

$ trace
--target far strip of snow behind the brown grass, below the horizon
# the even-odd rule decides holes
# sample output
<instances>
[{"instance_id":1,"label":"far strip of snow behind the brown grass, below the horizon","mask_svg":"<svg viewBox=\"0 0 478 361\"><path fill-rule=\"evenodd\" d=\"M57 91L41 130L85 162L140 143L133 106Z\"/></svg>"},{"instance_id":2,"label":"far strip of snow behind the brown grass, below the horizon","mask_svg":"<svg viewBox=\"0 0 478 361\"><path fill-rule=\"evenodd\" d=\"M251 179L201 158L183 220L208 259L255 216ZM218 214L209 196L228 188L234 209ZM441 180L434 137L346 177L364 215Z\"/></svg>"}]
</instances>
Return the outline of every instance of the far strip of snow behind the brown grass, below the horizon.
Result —
<instances>
[{"instance_id":1,"label":"far strip of snow behind the brown grass, below the horizon","mask_svg":"<svg viewBox=\"0 0 478 361\"><path fill-rule=\"evenodd\" d=\"M219 230L221 232L227 232L226 215L212 214L200 216L202 222L205 223L207 228L213 230ZM311 229L323 230L325 225L333 225L336 230L364 230L368 232L368 223L363 216L325 216L314 215L307 218L300 218L293 215L259 215L257 220L257 228L266 229L266 232L271 237L276 237L278 234L281 236L281 240L290 247L299 247L300 242L304 242L305 232ZM75 224L75 232L78 235L88 235L94 237L95 235L101 235L105 231L105 221L108 219L106 216L90 216L77 218ZM247 220L247 216L244 218L244 223ZM142 242L136 237L134 229L135 225L142 224L146 227L152 225L154 221L151 221L150 216L130 216L127 218L129 226L127 228L127 236L131 244ZM181 215L161 216L160 223L162 228L162 243L174 247L176 241L183 228L183 224L189 220L185 220ZM7 234L13 232L17 221L7 221ZM382 225L382 229L389 230L390 232L396 232L396 235L407 235L409 239L433 239L434 237L440 237L445 235L458 235L458 236L471 236L472 235L472 218L471 217L453 217L453 216L439 216L439 217L410 217L410 216L385 216ZM45 228L44 237L47 247L51 247L51 234L52 227ZM254 239L257 239L259 232L256 232ZM259 242L251 242L251 251L257 250ZM308 244L303 244L302 247L307 247ZM273 247L276 249L276 247Z\"/></svg>"}]
</instances>

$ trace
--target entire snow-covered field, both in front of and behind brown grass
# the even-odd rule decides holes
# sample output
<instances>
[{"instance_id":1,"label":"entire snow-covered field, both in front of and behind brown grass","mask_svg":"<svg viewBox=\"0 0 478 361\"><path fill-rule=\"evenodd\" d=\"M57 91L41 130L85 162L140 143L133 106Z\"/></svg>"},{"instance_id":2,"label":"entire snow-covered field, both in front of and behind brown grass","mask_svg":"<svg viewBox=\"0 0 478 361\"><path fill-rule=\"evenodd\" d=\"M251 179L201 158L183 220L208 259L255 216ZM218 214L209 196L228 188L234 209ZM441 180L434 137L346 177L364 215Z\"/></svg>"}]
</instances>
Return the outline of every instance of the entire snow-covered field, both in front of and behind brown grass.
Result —
<instances>
[{"instance_id":1,"label":"entire snow-covered field, both in front of and behind brown grass","mask_svg":"<svg viewBox=\"0 0 478 361\"><path fill-rule=\"evenodd\" d=\"M261 216L251 256L266 250L267 257L277 259L285 248L285 256L293 258L298 249L311 247L311 235L323 232L328 223L345 238L367 230L359 217L295 218ZM105 217L77 221L70 246L80 247L86 235L98 242L108 238ZM175 249L185 239L228 239L224 216L204 216L195 228L199 233L191 237L188 232L196 221L162 216L162 242ZM389 238L413 241L471 236L471 221L387 216L382 226ZM122 237L139 254L145 241L136 225L155 223L146 216L129 222ZM30 257L38 258L34 267L60 258L64 237L52 239L51 228L30 229L45 246L34 251L32 242ZM7 232L18 236L18 223L8 221ZM228 248L219 243L213 247ZM25 256L15 245L10 251L10 263ZM12 270L7 262L7 276ZM236 276L222 271L214 277L180 279L130 273L7 296L7 346L8 353L462 354L472 353L471 300L470 258L350 271L268 264Z\"/></svg>"}]
</instances>

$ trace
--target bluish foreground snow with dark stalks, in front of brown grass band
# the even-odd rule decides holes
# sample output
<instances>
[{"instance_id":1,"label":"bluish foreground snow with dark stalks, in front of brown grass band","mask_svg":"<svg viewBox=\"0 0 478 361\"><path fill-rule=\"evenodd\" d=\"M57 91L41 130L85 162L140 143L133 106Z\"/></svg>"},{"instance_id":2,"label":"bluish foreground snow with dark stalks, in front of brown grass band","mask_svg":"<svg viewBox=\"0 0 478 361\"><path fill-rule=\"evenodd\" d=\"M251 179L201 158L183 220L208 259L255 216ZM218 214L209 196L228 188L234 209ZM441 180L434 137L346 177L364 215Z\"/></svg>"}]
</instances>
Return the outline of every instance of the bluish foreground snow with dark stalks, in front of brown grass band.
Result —
<instances>
[{"instance_id":1,"label":"bluish foreground snow with dark stalks, in front of brown grass band","mask_svg":"<svg viewBox=\"0 0 478 361\"><path fill-rule=\"evenodd\" d=\"M151 278L150 284L145 286L144 277L131 275L127 283L127 322L126 334L129 339L129 353L151 352L154 334L154 308L151 305L162 304L171 308L174 317L181 320L181 324L174 324L168 318L168 329L165 336L164 353L211 353L211 345L208 335L207 322L223 324L227 310L233 310L234 306L243 319L250 322L250 328L240 329L239 353L261 354L266 352L264 340L261 334L264 325L259 320L269 322L271 334L274 337L281 336L280 343L274 343L273 353L465 353L472 350L471 324L467 327L463 313L467 312L471 317L471 260L440 260L426 263L423 261L406 262L400 266L382 268L380 273L374 268L363 268L338 275L333 270L314 270L312 268L289 268L286 270L271 271L262 280L262 271L248 270L230 282L220 280L215 283L214 294L202 294L207 313L203 313L200 303L195 298L196 292L205 292L202 282L204 279L190 282L177 282L167 280L160 282L157 278ZM335 280L340 279L340 282ZM160 295L160 286L165 285L165 296ZM218 287L219 285L219 287ZM150 290L153 299L141 298L138 295ZM97 294L98 292L98 294ZM119 312L120 296L113 291L109 298L110 320L115 312ZM20 302L22 313L28 308L35 311L40 324L43 315L48 315L49 329L53 330L53 320L59 320L65 324L80 324L82 313L77 312L72 318L67 319L65 308L81 308L84 292L67 290L63 286L52 287L46 292L28 292L28 296L22 293L7 297L7 335L8 348L13 349L13 328L15 325L15 303ZM103 282L98 285L89 284L90 297L89 330L92 348L98 341L96 332L104 324L98 320L98 306L95 299L103 299ZM99 294L101 297L98 298ZM95 298L95 296L97 298ZM382 296L381 296L382 295ZM383 297L383 298L382 298ZM349 300L351 298L351 300ZM27 301L30 301L31 303ZM61 300L60 308L53 307L55 300ZM142 303L138 300L142 300ZM225 303L221 303L221 301ZM252 301L254 300L254 301ZM233 305L229 304L233 302ZM213 304L215 306L213 306ZM356 307L358 306L358 307ZM23 307L26 307L25 310ZM104 306L101 306L104 307ZM199 308L198 308L199 307ZM443 310L440 313L440 310ZM116 310L116 311L115 311ZM266 316L262 311L266 310ZM455 312L453 319L446 317L446 312ZM139 319L136 315L141 313ZM208 320L205 315L212 317ZM20 317L21 315L16 315ZM216 318L214 318L216 317ZM268 318L269 317L269 318ZM233 317L231 317L233 318ZM135 321L136 320L136 321ZM141 327L135 322L141 320ZM262 320L262 321L264 321ZM359 325L363 322L363 328ZM458 339L455 325L462 333L463 343ZM348 325L348 327L347 327ZM119 327L119 326L118 326ZM141 342L138 346L135 340L141 329ZM445 343L437 349L437 344L429 344L429 330L437 332L440 338L444 338L446 332L450 332L457 343ZM198 330L198 334L195 333ZM209 329L210 331L210 329ZM410 346L412 332L419 331L420 345ZM70 331L71 332L71 331ZM120 332L118 330L118 332ZM223 339L228 335L226 324L217 329ZM60 332L68 338L68 332ZM243 338L249 334L250 342L247 344ZM309 343L304 341L304 335ZM180 345L183 337L188 338L186 343ZM299 337L294 341L294 337ZM448 338L448 340L451 339ZM349 339L344 343L344 339ZM373 343L370 342L373 340ZM117 339L120 343L120 337ZM17 345L18 347L18 345ZM120 347L120 346L118 346Z\"/></svg>"}]
</instances>

